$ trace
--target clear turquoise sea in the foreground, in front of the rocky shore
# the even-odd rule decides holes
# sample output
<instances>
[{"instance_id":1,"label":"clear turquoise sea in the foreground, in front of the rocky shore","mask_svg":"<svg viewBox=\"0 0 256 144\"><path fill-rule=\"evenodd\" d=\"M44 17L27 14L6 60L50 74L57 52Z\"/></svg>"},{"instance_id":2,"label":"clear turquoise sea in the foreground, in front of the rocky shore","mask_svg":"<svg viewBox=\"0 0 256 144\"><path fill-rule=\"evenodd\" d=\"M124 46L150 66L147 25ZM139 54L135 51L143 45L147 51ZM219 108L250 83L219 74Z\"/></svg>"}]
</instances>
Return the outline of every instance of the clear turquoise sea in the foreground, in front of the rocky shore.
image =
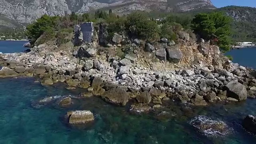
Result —
<instances>
[{"instance_id":1,"label":"clear turquoise sea in the foreground, in front of the rocky shore","mask_svg":"<svg viewBox=\"0 0 256 144\"><path fill-rule=\"evenodd\" d=\"M45 96L77 96L85 90L66 90L63 84L41 86L35 78L0 79L0 144L254 144L256 137L247 133L242 118L256 115L256 100L233 104L213 104L191 108L168 103L163 110L171 115L132 114L128 107L114 106L99 97L73 99L70 107L56 104L35 108L33 101ZM66 124L68 110L90 110L94 123L85 128ZM206 136L190 120L207 116L227 123L230 133Z\"/></svg>"}]
</instances>

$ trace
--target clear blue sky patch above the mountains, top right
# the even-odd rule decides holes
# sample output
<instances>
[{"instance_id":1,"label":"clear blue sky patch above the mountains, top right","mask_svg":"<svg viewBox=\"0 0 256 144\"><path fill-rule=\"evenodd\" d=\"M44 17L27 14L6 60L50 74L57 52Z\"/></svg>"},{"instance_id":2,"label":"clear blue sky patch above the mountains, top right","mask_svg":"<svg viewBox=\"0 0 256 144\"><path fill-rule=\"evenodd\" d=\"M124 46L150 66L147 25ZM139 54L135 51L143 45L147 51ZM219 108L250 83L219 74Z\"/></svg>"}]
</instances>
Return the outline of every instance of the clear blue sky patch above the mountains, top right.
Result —
<instances>
[{"instance_id":1,"label":"clear blue sky patch above the mountains, top right","mask_svg":"<svg viewBox=\"0 0 256 144\"><path fill-rule=\"evenodd\" d=\"M256 7L256 0L211 0L217 8L224 6L250 6Z\"/></svg>"}]
</instances>

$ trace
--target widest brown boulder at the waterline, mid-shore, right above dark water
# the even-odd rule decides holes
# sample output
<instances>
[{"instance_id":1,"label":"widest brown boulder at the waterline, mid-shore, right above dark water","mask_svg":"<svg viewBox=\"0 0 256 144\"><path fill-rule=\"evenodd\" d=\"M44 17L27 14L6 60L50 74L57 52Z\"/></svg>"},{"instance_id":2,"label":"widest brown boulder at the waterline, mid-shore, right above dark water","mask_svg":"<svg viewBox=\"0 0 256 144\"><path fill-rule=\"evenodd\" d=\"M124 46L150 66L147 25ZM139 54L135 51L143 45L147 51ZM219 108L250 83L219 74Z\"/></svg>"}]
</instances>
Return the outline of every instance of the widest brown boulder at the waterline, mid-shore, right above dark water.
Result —
<instances>
[{"instance_id":1,"label":"widest brown boulder at the waterline, mid-shore, right above dark water","mask_svg":"<svg viewBox=\"0 0 256 144\"><path fill-rule=\"evenodd\" d=\"M102 98L106 100L106 102L125 106L129 100L129 95L123 88L114 88L112 90L106 91L102 95Z\"/></svg>"}]
</instances>

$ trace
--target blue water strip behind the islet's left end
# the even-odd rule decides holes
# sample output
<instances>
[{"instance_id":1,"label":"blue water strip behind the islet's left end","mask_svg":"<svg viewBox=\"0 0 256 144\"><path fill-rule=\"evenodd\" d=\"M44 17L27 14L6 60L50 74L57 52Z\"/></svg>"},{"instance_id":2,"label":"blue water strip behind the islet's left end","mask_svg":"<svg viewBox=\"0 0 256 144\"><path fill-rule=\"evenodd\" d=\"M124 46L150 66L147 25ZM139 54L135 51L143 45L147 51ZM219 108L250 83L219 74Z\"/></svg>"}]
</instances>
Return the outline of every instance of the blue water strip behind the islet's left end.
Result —
<instances>
[{"instance_id":1,"label":"blue water strip behind the islet's left end","mask_svg":"<svg viewBox=\"0 0 256 144\"><path fill-rule=\"evenodd\" d=\"M0 40L0 52L2 53L14 53L14 52L23 52L27 48L23 47L23 44L28 41L8 41Z\"/></svg>"}]
</instances>

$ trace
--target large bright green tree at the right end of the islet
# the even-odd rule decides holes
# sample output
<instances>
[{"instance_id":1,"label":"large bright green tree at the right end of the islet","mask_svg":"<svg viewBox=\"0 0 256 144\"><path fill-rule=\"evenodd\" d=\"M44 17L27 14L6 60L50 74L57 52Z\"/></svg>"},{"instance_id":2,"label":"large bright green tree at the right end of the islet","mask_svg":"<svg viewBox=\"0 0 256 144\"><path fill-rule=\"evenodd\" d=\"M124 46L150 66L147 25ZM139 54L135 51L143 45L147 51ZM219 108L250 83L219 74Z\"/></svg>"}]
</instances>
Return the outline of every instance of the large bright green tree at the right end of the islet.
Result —
<instances>
[{"instance_id":1,"label":"large bright green tree at the right end of the islet","mask_svg":"<svg viewBox=\"0 0 256 144\"><path fill-rule=\"evenodd\" d=\"M206 40L212 40L224 52L230 48L230 23L232 19L222 12L196 14L192 20L194 32Z\"/></svg>"}]
</instances>

